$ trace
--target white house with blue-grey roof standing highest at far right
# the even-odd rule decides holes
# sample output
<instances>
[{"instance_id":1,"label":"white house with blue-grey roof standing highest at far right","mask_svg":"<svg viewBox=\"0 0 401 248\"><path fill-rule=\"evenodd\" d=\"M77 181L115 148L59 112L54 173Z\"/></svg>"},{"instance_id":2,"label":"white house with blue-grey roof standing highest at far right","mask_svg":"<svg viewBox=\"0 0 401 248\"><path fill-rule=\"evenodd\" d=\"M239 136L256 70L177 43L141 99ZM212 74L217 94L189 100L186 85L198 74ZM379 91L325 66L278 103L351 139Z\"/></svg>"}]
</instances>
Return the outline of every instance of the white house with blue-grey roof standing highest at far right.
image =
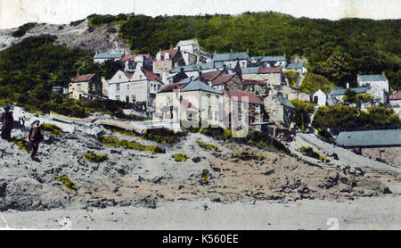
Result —
<instances>
[{"instance_id":1,"label":"white house with blue-grey roof standing highest at far right","mask_svg":"<svg viewBox=\"0 0 401 248\"><path fill-rule=\"evenodd\" d=\"M387 103L386 94L389 92L389 80L383 75L358 75L357 83L358 87L370 87L367 93L373 95L374 103Z\"/></svg>"}]
</instances>

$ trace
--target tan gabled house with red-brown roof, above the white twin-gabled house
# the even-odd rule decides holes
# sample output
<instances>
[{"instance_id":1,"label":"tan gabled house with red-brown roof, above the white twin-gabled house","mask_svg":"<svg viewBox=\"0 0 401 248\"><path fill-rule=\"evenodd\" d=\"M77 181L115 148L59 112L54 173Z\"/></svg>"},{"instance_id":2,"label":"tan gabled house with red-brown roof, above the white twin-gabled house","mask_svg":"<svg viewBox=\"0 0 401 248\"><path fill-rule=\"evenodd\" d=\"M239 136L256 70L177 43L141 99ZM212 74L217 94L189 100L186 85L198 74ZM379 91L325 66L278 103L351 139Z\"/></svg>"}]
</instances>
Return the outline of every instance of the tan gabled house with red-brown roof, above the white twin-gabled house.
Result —
<instances>
[{"instance_id":1,"label":"tan gabled house with red-brown roof, above the white twin-gabled house","mask_svg":"<svg viewBox=\"0 0 401 248\"><path fill-rule=\"evenodd\" d=\"M153 72L168 73L177 66L184 66L185 61L180 48L160 51L153 59ZM167 74L166 74L167 75Z\"/></svg>"}]
</instances>

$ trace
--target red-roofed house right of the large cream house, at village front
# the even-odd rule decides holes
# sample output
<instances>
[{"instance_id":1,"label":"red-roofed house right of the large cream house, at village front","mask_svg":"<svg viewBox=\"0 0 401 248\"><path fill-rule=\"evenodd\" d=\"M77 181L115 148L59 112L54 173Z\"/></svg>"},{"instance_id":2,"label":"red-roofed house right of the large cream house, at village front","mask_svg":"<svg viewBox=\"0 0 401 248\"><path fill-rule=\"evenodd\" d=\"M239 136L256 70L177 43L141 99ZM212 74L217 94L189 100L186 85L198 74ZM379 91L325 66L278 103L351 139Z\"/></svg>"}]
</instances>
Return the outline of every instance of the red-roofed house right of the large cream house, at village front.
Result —
<instances>
[{"instance_id":1,"label":"red-roofed house right of the large cream house, at village front","mask_svg":"<svg viewBox=\"0 0 401 248\"><path fill-rule=\"evenodd\" d=\"M261 131L263 122L263 102L252 92L225 90L224 113L225 120L233 128L233 121L239 121L252 129ZM236 111L233 111L237 108ZM233 116L233 114L238 114Z\"/></svg>"}]
</instances>

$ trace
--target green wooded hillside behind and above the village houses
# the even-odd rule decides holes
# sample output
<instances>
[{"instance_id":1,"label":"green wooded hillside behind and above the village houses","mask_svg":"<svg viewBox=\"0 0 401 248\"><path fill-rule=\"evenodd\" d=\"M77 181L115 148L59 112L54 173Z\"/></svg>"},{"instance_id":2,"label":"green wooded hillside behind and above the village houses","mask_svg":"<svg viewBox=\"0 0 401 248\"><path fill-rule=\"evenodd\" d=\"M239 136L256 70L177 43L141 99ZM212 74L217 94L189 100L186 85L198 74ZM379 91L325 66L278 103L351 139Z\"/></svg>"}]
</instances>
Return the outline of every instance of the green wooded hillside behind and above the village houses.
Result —
<instances>
[{"instance_id":1,"label":"green wooded hillside behind and above the village houses","mask_svg":"<svg viewBox=\"0 0 401 248\"><path fill-rule=\"evenodd\" d=\"M102 22L98 19L96 25ZM355 84L357 73L385 71L391 87L401 88L400 20L327 21L247 12L239 16L131 15L121 23L120 35L135 53L156 54L179 40L197 37L210 52L304 55L311 72L338 86L348 81Z\"/></svg>"}]
</instances>

